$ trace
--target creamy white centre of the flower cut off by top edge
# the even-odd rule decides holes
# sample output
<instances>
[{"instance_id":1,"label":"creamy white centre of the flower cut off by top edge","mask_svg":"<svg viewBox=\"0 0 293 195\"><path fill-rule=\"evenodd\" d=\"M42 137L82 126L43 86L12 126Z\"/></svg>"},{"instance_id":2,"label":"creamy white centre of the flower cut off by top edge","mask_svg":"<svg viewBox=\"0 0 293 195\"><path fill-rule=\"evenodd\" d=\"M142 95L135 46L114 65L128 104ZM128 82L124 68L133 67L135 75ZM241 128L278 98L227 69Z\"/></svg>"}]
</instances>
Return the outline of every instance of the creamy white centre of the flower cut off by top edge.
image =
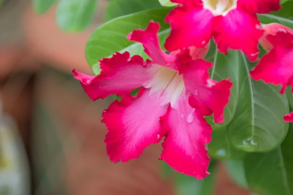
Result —
<instances>
[{"instance_id":1,"label":"creamy white centre of the flower cut off by top edge","mask_svg":"<svg viewBox=\"0 0 293 195\"><path fill-rule=\"evenodd\" d=\"M237 0L203 0L203 2L204 8L209 9L215 16L225 16L237 6Z\"/></svg>"}]
</instances>

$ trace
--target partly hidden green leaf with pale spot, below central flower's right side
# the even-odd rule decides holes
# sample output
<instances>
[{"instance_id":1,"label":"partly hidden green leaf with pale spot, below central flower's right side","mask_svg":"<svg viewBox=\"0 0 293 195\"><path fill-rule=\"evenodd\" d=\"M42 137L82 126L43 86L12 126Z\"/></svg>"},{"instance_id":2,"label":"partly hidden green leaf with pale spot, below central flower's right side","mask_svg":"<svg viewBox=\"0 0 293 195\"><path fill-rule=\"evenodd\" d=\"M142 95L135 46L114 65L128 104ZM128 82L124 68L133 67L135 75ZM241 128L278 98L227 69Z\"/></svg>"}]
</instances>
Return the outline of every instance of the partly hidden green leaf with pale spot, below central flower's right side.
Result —
<instances>
[{"instance_id":1,"label":"partly hidden green leaf with pale spot, below central flower's right side","mask_svg":"<svg viewBox=\"0 0 293 195\"><path fill-rule=\"evenodd\" d=\"M212 140L209 143L209 156L217 159L243 159L245 152L237 150L231 143L228 137L228 131L223 128L218 131L213 131L211 134Z\"/></svg>"}]
</instances>

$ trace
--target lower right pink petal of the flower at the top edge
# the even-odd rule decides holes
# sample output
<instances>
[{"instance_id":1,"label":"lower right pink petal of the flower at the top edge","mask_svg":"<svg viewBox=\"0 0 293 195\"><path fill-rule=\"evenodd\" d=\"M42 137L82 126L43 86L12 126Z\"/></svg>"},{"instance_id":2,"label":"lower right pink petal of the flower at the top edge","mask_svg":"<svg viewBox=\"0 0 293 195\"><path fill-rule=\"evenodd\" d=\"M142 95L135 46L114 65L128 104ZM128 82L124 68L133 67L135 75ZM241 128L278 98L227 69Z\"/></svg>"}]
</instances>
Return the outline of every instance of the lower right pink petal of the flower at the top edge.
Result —
<instances>
[{"instance_id":1,"label":"lower right pink petal of the flower at the top edge","mask_svg":"<svg viewBox=\"0 0 293 195\"><path fill-rule=\"evenodd\" d=\"M262 34L256 15L249 15L240 9L233 9L225 17L217 16L213 20L213 35L219 51L241 50L251 61L257 59L258 39Z\"/></svg>"}]
</instances>

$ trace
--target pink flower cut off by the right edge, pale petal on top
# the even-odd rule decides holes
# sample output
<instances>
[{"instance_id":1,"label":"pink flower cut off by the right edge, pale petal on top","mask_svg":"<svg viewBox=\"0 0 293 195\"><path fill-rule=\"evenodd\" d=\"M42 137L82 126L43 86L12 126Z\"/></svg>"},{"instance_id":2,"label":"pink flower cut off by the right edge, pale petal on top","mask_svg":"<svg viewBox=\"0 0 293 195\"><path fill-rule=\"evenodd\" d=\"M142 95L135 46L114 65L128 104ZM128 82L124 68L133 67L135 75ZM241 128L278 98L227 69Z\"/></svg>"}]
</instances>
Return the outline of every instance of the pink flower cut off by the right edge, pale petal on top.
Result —
<instances>
[{"instance_id":1,"label":"pink flower cut off by the right edge, pale petal on top","mask_svg":"<svg viewBox=\"0 0 293 195\"><path fill-rule=\"evenodd\" d=\"M288 85L293 86L293 30L278 23L263 24L263 27L266 37L259 42L269 53L251 70L251 78L281 84L280 93L284 94ZM293 113L284 116L284 120L293 122Z\"/></svg>"}]
</instances>

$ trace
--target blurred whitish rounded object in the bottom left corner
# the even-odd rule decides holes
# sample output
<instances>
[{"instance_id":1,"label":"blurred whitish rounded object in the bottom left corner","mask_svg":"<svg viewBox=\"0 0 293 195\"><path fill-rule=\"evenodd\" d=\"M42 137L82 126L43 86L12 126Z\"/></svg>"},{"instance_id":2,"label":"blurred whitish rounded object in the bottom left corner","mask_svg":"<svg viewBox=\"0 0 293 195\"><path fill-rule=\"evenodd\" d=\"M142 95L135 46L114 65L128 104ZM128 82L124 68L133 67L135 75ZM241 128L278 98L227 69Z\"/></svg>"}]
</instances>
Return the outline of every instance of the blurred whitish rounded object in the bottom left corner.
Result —
<instances>
[{"instance_id":1,"label":"blurred whitish rounded object in the bottom left corner","mask_svg":"<svg viewBox=\"0 0 293 195\"><path fill-rule=\"evenodd\" d=\"M15 121L0 101L0 195L30 195L27 156Z\"/></svg>"}]
</instances>

